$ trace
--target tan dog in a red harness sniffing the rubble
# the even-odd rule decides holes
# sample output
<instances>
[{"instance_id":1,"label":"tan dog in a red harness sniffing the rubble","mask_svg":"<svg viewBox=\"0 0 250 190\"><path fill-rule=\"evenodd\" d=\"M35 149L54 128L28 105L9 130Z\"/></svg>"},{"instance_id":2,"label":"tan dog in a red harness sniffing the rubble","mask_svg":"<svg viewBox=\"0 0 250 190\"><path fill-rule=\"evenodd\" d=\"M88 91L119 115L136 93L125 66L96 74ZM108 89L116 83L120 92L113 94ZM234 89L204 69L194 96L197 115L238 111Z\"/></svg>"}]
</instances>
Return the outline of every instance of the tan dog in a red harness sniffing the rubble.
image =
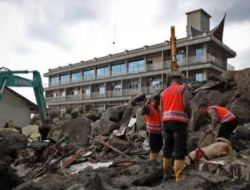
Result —
<instances>
[{"instance_id":1,"label":"tan dog in a red harness sniffing the rubble","mask_svg":"<svg viewBox=\"0 0 250 190\"><path fill-rule=\"evenodd\" d=\"M230 141L223 137L219 137L217 138L217 142L204 148L197 148L190 152L189 156L185 159L185 163L186 165L191 165L199 160L211 160L227 156L232 152L233 149Z\"/></svg>"}]
</instances>

